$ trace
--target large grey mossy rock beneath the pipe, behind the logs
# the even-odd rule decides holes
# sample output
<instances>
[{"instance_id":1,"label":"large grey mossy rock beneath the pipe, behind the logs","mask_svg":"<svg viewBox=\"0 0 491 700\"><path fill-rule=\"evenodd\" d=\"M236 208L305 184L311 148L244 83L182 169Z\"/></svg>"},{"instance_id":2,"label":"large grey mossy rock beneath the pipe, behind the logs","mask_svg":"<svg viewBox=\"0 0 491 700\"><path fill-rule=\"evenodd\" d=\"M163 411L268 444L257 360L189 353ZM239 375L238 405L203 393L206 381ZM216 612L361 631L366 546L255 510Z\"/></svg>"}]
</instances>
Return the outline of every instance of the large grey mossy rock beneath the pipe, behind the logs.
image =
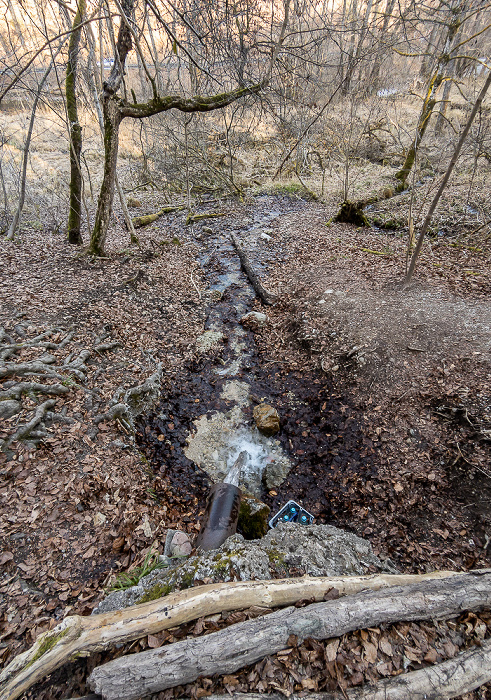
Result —
<instances>
[{"instance_id":1,"label":"large grey mossy rock beneath the pipe, behind the logs","mask_svg":"<svg viewBox=\"0 0 491 700\"><path fill-rule=\"evenodd\" d=\"M210 552L189 557L177 566L152 571L137 586L110 593L94 613L121 610L155 600L196 581L252 581L309 576L353 576L390 571L364 540L330 525L280 523L262 539L229 537Z\"/></svg>"}]
</instances>

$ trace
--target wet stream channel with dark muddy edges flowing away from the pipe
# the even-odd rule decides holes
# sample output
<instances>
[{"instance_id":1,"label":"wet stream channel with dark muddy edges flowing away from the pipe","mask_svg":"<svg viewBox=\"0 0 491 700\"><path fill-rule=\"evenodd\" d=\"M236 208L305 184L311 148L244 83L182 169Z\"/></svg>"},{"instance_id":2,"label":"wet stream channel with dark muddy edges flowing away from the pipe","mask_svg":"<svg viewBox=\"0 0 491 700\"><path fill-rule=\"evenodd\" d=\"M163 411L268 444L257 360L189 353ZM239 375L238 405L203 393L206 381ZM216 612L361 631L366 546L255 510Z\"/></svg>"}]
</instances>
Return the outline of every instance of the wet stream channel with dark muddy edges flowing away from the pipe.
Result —
<instances>
[{"instance_id":1,"label":"wet stream channel with dark muddy edges flowing away from the pipe","mask_svg":"<svg viewBox=\"0 0 491 700\"><path fill-rule=\"evenodd\" d=\"M198 359L138 426L139 447L167 485L165 501L185 523L195 522L211 482L222 480L243 450L248 459L241 486L267 503L272 515L292 498L316 522L349 526L356 482L371 472L371 450L349 400L321 373L288 372L264 357L240 323L253 310L255 293L230 233L264 282L268 266L286 259L275 239L281 218L305 206L303 200L265 195L244 205L240 218L235 211L193 225L209 285ZM210 207L200 213L205 211ZM182 231L182 216L171 218L169 229L170 235ZM268 307L262 311L267 314ZM273 437L255 427L252 411L261 401L280 415L281 429Z\"/></svg>"}]
</instances>

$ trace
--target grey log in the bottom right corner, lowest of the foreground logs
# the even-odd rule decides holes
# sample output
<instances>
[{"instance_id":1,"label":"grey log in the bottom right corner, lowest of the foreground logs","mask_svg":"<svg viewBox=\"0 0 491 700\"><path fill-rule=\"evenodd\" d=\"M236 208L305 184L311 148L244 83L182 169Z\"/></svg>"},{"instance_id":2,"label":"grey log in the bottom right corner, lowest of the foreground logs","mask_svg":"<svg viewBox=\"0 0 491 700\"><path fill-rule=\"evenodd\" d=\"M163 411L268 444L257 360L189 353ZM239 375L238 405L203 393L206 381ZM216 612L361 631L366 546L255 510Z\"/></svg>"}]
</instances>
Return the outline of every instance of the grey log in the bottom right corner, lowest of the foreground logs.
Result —
<instances>
[{"instance_id":1,"label":"grey log in the bottom right corner, lowest of the foreground logs","mask_svg":"<svg viewBox=\"0 0 491 700\"><path fill-rule=\"evenodd\" d=\"M448 661L418 671L384 678L375 686L349 688L341 693L309 693L308 700L438 700L470 693L491 681L491 640ZM95 696L97 698L97 696ZM233 700L284 700L284 695L237 693ZM207 700L224 700L223 695L210 695ZM305 700L290 695L290 700Z\"/></svg>"}]
</instances>

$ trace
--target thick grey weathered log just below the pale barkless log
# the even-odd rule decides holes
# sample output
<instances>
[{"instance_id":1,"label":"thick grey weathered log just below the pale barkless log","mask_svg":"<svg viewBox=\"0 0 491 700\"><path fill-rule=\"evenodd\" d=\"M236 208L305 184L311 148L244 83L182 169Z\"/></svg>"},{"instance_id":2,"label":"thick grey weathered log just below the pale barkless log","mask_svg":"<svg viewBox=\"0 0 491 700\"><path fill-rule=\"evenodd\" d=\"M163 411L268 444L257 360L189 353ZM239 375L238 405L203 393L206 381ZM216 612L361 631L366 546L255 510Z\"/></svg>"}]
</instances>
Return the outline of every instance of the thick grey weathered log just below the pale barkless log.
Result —
<instances>
[{"instance_id":1,"label":"thick grey weathered log just below the pale barkless log","mask_svg":"<svg viewBox=\"0 0 491 700\"><path fill-rule=\"evenodd\" d=\"M95 668L90 688L104 700L137 700L199 676L230 674L307 637L328 639L381 624L445 619L491 605L491 573L471 573L288 607L219 632L124 656Z\"/></svg>"}]
</instances>

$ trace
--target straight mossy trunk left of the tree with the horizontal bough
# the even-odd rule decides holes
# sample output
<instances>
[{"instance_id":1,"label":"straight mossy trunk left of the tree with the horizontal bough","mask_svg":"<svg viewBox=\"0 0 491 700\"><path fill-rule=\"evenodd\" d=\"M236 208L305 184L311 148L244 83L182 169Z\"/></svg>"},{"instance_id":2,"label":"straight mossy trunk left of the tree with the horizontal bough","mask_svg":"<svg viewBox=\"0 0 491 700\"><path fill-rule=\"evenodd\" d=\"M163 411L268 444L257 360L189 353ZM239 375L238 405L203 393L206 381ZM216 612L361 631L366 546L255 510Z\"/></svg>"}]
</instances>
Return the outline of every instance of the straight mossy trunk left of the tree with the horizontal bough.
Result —
<instances>
[{"instance_id":1,"label":"straight mossy trunk left of the tree with the horizontal bough","mask_svg":"<svg viewBox=\"0 0 491 700\"><path fill-rule=\"evenodd\" d=\"M80 231L82 220L82 169L80 154L82 152L82 127L78 121L77 110L77 64L85 15L86 0L78 0L77 12L73 20L72 32L68 44L68 61L66 67L65 95L67 105L68 128L70 131L70 208L68 212L68 242L82 245Z\"/></svg>"}]
</instances>

